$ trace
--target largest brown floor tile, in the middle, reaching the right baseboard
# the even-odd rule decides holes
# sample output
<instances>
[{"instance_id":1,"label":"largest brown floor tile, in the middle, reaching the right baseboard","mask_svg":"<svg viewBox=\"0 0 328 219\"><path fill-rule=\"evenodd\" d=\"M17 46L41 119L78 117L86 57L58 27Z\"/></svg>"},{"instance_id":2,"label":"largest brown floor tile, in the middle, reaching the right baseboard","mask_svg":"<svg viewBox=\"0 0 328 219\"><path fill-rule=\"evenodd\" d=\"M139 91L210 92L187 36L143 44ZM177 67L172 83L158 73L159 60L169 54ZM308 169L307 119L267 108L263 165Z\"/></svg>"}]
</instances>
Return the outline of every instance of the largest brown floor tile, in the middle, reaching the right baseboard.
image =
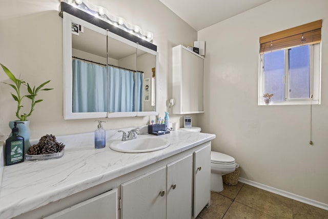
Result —
<instances>
[{"instance_id":1,"label":"largest brown floor tile, in the middle, reaching the right baseboard","mask_svg":"<svg viewBox=\"0 0 328 219\"><path fill-rule=\"evenodd\" d=\"M293 218L293 200L249 185L243 185L236 202L277 218Z\"/></svg>"}]
</instances>

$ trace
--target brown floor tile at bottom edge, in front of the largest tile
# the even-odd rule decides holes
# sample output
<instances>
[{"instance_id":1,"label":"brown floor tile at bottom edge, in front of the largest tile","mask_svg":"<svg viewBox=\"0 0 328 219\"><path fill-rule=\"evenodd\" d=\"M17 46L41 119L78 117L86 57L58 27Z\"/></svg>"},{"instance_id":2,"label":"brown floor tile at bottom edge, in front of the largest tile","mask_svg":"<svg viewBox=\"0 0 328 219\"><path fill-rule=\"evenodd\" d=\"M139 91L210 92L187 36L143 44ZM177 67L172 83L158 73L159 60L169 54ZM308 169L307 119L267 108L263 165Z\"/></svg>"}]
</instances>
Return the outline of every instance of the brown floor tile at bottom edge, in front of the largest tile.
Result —
<instances>
[{"instance_id":1,"label":"brown floor tile at bottom edge, in front of the largest tile","mask_svg":"<svg viewBox=\"0 0 328 219\"><path fill-rule=\"evenodd\" d=\"M261 218L261 219L275 219L268 214L264 214L258 210L240 204L238 202L233 202L230 208L228 209L226 215L223 216L223 219L254 219L254 218Z\"/></svg>"}]
</instances>

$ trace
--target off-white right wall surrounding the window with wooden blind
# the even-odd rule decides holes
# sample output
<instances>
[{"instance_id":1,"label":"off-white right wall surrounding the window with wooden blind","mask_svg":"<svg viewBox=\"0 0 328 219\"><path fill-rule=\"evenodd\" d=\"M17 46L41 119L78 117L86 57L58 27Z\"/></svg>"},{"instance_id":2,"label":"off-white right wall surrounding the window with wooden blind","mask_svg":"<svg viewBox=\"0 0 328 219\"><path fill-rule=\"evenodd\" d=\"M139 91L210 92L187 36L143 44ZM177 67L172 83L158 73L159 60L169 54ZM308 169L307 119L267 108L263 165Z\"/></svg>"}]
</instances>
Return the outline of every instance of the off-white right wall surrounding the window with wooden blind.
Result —
<instances>
[{"instance_id":1,"label":"off-white right wall surrounding the window with wooden blind","mask_svg":"<svg viewBox=\"0 0 328 219\"><path fill-rule=\"evenodd\" d=\"M328 204L328 1L274 0L198 32L206 41L204 132L241 177ZM258 106L259 37L323 19L321 105Z\"/></svg>"}]
</instances>

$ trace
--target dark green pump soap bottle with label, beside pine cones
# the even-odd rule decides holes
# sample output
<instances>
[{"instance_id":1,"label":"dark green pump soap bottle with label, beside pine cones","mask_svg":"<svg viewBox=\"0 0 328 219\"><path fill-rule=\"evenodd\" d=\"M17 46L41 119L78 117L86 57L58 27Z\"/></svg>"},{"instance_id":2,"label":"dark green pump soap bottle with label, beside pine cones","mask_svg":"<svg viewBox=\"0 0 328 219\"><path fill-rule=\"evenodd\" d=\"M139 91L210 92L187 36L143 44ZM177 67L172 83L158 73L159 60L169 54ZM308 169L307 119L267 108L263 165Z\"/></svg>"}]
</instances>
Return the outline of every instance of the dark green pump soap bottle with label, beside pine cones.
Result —
<instances>
[{"instance_id":1,"label":"dark green pump soap bottle with label, beside pine cones","mask_svg":"<svg viewBox=\"0 0 328 219\"><path fill-rule=\"evenodd\" d=\"M12 136L6 140L4 150L6 166L24 162L24 137L18 135L17 122L14 122Z\"/></svg>"}]
</instances>

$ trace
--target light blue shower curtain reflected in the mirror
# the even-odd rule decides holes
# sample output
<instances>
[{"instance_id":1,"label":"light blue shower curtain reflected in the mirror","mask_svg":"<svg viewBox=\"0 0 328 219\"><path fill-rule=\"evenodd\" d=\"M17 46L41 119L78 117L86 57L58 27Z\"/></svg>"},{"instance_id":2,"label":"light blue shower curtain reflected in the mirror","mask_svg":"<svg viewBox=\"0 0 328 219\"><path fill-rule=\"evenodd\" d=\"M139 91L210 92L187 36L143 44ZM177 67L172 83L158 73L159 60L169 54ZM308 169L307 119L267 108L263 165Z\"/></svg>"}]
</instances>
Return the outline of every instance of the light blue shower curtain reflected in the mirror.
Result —
<instances>
[{"instance_id":1,"label":"light blue shower curtain reflected in the mirror","mask_svg":"<svg viewBox=\"0 0 328 219\"><path fill-rule=\"evenodd\" d=\"M108 66L108 112L142 111L142 82L142 73ZM105 66L73 59L73 112L106 112L106 90Z\"/></svg>"}]
</instances>

